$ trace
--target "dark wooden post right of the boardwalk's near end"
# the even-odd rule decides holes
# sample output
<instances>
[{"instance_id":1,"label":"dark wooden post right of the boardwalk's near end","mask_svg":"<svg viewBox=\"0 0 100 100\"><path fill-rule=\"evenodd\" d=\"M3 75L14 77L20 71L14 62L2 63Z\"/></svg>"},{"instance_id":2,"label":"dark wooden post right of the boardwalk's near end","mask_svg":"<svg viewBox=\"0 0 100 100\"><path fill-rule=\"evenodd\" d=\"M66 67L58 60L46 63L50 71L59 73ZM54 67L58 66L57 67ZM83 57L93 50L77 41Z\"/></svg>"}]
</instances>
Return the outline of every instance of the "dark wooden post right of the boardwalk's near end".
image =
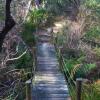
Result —
<instances>
[{"instance_id":1,"label":"dark wooden post right of the boardwalk's near end","mask_svg":"<svg viewBox=\"0 0 100 100\"><path fill-rule=\"evenodd\" d=\"M81 100L81 93L82 93L82 78L76 79L76 93L77 93L77 100Z\"/></svg>"}]
</instances>

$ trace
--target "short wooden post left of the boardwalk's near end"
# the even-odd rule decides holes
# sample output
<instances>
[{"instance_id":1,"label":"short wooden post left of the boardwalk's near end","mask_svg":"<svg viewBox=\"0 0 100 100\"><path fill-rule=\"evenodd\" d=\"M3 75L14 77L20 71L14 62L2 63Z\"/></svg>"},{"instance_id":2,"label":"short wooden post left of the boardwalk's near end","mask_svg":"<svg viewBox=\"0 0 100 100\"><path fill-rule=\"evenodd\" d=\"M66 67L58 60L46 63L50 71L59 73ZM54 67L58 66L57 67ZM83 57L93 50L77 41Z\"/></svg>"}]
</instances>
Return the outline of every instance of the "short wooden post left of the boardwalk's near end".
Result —
<instances>
[{"instance_id":1,"label":"short wooden post left of the boardwalk's near end","mask_svg":"<svg viewBox=\"0 0 100 100\"><path fill-rule=\"evenodd\" d=\"M26 81L26 100L32 100L32 96L31 96L31 80Z\"/></svg>"}]
</instances>

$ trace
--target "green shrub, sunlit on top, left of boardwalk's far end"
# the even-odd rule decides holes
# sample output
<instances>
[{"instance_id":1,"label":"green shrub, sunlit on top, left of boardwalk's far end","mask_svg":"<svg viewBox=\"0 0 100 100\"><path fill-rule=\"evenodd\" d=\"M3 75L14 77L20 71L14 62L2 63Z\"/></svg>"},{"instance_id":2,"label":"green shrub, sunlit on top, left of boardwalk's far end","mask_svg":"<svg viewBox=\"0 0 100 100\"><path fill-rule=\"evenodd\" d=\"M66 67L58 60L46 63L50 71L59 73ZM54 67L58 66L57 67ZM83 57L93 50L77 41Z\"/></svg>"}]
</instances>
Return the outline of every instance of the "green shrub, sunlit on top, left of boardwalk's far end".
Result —
<instances>
[{"instance_id":1,"label":"green shrub, sunlit on top, left of boardwalk's far end","mask_svg":"<svg viewBox=\"0 0 100 100\"><path fill-rule=\"evenodd\" d=\"M43 25L48 18L48 13L45 9L32 9L27 17L26 22L23 25L23 31L21 36L23 40L29 45L35 45L35 36L33 32L36 32L37 28Z\"/></svg>"}]
</instances>

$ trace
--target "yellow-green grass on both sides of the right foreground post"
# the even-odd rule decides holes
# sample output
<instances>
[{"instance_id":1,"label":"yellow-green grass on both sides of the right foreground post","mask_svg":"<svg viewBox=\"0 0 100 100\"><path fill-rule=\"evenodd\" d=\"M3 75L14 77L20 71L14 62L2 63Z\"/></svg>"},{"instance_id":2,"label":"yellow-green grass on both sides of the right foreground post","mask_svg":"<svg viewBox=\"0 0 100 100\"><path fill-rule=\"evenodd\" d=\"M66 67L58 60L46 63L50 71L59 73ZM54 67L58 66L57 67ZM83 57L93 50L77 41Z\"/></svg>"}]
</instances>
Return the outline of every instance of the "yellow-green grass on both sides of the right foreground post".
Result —
<instances>
[{"instance_id":1,"label":"yellow-green grass on both sides of the right foreground post","mask_svg":"<svg viewBox=\"0 0 100 100\"><path fill-rule=\"evenodd\" d=\"M77 100L76 87L71 86L69 90L70 90L71 99ZM81 100L100 100L100 84L83 83Z\"/></svg>"}]
</instances>

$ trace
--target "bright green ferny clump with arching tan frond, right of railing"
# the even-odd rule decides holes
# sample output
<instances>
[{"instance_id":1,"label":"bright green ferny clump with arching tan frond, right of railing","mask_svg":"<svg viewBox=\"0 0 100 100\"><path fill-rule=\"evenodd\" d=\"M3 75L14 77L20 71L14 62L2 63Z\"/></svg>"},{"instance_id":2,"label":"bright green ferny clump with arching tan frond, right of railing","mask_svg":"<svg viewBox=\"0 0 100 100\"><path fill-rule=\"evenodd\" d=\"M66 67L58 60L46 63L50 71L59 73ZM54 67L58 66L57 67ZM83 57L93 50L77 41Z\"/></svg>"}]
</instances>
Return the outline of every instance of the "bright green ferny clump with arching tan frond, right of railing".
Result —
<instances>
[{"instance_id":1,"label":"bright green ferny clump with arching tan frond, right of railing","mask_svg":"<svg viewBox=\"0 0 100 100\"><path fill-rule=\"evenodd\" d=\"M84 78L88 71L96 67L94 63L91 63L91 64L83 63L82 64L82 62L78 61L78 59L65 60L64 65L65 65L64 71L66 73L70 73L75 79L80 78L80 77Z\"/></svg>"}]
</instances>

